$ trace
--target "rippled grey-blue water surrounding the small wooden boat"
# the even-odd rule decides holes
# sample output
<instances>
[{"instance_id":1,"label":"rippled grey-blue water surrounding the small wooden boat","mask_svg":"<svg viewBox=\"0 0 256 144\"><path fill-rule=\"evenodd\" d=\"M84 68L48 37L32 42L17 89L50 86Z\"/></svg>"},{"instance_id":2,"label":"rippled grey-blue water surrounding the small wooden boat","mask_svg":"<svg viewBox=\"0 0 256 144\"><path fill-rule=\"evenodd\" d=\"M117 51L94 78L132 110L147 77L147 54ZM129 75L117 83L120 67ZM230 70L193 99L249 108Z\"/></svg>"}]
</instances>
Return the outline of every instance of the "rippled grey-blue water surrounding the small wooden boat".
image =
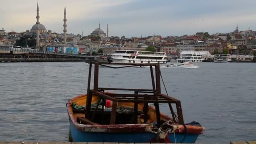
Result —
<instances>
[{"instance_id":1,"label":"rippled grey-blue water surrounding the small wooden boat","mask_svg":"<svg viewBox=\"0 0 256 144\"><path fill-rule=\"evenodd\" d=\"M256 138L256 63L161 66L168 94L181 100L185 122L206 130L197 142ZM100 67L100 86L151 88L149 68ZM0 141L68 141L67 100L85 93L84 62L0 63ZM165 93L162 86L162 93ZM160 105L168 114L168 106Z\"/></svg>"}]
</instances>

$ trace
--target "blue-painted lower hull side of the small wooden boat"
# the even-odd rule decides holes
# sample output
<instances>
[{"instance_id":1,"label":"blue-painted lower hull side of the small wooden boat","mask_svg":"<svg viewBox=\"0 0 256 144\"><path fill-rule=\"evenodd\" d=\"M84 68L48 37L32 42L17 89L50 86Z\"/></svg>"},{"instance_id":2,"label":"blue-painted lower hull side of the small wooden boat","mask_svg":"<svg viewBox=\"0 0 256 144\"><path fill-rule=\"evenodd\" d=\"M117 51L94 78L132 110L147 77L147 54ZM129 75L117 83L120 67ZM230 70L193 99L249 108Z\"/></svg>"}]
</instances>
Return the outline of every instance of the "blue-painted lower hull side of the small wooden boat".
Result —
<instances>
[{"instance_id":1,"label":"blue-painted lower hull side of the small wooden boat","mask_svg":"<svg viewBox=\"0 0 256 144\"><path fill-rule=\"evenodd\" d=\"M155 133L100 133L100 132L84 132L80 131L75 127L71 120L69 120L69 130L74 142L132 142L132 143L143 143L143 142L156 142L157 134ZM170 133L165 142L176 142L176 143L195 143L198 135L196 134L181 134Z\"/></svg>"}]
</instances>

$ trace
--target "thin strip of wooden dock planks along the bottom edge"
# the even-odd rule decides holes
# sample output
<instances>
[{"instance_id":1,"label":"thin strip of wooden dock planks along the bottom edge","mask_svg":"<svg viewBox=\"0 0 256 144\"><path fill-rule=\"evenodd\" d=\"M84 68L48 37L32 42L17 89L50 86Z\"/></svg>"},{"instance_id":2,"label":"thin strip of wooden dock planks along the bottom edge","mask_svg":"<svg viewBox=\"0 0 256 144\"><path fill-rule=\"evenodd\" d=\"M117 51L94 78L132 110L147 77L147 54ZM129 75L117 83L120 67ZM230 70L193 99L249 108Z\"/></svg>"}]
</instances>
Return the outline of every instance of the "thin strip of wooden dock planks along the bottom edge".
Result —
<instances>
[{"instance_id":1,"label":"thin strip of wooden dock planks along the bottom edge","mask_svg":"<svg viewBox=\"0 0 256 144\"><path fill-rule=\"evenodd\" d=\"M165 144L165 143L118 143L118 142L68 142L68 141L0 141L0 144ZM171 143L166 143L171 144ZM174 143L173 143L174 144ZM180 144L180 143L176 143ZM210 142L195 144L256 144L256 141Z\"/></svg>"}]
</instances>

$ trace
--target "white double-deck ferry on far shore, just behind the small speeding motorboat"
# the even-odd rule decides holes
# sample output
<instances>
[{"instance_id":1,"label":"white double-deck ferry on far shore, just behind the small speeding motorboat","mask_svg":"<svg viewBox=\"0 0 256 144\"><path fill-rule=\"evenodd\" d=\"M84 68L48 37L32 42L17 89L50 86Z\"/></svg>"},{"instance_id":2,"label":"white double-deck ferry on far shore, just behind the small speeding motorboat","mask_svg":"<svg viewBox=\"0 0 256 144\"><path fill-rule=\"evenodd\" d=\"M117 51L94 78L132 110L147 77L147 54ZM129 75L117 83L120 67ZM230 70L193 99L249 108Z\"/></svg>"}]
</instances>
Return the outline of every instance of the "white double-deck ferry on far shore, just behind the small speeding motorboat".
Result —
<instances>
[{"instance_id":1,"label":"white double-deck ferry on far shore, just behind the small speeding motorboat","mask_svg":"<svg viewBox=\"0 0 256 144\"><path fill-rule=\"evenodd\" d=\"M206 53L206 52L204 52L204 53ZM202 54L199 51L182 51L180 53L180 58L181 59L189 59L189 62L203 62Z\"/></svg>"}]
</instances>

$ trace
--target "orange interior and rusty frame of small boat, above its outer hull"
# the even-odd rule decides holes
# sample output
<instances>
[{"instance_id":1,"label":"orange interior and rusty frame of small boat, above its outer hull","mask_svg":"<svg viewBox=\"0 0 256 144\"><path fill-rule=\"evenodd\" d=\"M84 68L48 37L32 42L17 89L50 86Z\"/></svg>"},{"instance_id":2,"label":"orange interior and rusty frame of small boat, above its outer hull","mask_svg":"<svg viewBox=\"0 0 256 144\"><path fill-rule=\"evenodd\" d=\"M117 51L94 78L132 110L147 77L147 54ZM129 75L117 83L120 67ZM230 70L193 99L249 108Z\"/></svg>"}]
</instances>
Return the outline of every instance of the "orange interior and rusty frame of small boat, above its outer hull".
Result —
<instances>
[{"instance_id":1,"label":"orange interior and rusty frame of small boat, above its outer hull","mask_svg":"<svg viewBox=\"0 0 256 144\"><path fill-rule=\"evenodd\" d=\"M69 111L77 123L86 125L152 123L159 128L166 121L172 121L184 125L181 102L161 93L159 64L120 64L94 61L89 64L87 94L69 100ZM93 89L91 89L92 64L94 64ZM112 65L121 66L113 67ZM152 89L99 88L99 66L111 68L149 66ZM155 77L153 67L155 67ZM129 91L131 94L108 91ZM160 112L159 104L161 103L168 104L171 117ZM176 109L173 109L173 105L176 106Z\"/></svg>"}]
</instances>

